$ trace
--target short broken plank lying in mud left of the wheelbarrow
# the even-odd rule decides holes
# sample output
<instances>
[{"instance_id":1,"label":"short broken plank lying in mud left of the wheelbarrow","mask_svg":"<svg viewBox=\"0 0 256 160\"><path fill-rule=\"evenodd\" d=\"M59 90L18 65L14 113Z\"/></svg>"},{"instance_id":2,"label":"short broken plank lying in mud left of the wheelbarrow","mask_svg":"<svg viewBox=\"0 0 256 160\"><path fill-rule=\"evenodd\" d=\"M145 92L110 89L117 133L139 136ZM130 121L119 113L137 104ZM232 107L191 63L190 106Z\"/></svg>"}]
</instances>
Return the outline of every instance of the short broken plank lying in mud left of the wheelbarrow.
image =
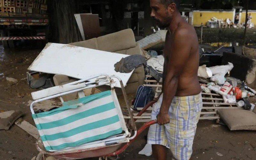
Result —
<instances>
[{"instance_id":1,"label":"short broken plank lying in mud left of the wheelbarrow","mask_svg":"<svg viewBox=\"0 0 256 160\"><path fill-rule=\"evenodd\" d=\"M31 136L38 139L39 138L39 132L35 126L28 123L27 121L23 120L22 118L19 118L17 121L15 121L15 124L18 125L21 129L28 132Z\"/></svg>"}]
</instances>

